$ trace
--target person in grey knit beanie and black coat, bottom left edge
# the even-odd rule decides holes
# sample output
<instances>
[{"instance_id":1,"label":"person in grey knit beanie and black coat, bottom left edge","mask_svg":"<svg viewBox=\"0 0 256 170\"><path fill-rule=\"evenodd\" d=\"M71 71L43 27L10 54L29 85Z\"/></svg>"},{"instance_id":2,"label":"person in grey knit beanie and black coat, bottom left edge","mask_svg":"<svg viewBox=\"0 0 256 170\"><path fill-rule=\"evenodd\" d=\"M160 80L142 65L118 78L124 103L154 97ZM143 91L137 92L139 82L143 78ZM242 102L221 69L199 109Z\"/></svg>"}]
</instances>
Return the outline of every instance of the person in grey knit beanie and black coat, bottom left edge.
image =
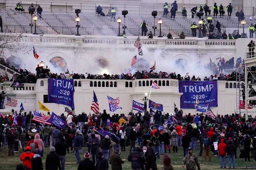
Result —
<instances>
[{"instance_id":1,"label":"person in grey knit beanie and black coat, bottom left edge","mask_svg":"<svg viewBox=\"0 0 256 170\"><path fill-rule=\"evenodd\" d=\"M45 169L46 170L61 169L60 162L59 162L59 155L55 153L54 146L50 147L50 153L46 156Z\"/></svg>"}]
</instances>

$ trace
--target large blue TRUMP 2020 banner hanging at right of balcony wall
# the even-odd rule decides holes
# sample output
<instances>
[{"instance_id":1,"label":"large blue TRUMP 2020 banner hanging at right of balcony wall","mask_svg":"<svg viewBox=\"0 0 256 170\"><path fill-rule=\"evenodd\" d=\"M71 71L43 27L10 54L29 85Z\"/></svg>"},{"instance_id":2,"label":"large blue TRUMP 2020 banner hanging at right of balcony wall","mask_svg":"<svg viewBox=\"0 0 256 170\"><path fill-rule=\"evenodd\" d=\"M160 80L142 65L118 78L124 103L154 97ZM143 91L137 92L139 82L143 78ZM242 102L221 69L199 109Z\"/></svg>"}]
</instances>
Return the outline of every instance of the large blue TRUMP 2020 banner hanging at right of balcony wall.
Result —
<instances>
[{"instance_id":1,"label":"large blue TRUMP 2020 banner hanging at right of balcony wall","mask_svg":"<svg viewBox=\"0 0 256 170\"><path fill-rule=\"evenodd\" d=\"M181 108L195 108L196 104L218 106L217 81L179 81Z\"/></svg>"}]
</instances>

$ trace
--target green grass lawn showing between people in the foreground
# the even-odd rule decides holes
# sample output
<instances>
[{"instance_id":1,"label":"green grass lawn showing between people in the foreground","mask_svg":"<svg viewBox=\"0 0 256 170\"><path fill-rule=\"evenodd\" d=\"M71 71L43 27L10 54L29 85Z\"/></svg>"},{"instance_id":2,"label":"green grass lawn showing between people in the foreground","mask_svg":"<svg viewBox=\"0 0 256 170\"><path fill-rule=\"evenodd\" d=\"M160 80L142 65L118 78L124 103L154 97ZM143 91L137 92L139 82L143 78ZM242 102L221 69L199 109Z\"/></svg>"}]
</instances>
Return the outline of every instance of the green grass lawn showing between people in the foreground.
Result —
<instances>
[{"instance_id":1,"label":"green grass lawn showing between people in the foreground","mask_svg":"<svg viewBox=\"0 0 256 170\"><path fill-rule=\"evenodd\" d=\"M183 159L183 149L182 147L178 147L178 153L167 153L168 156L171 158L171 164L174 169L184 169L181 167L181 162ZM83 148L82 153L84 153L87 150L87 148ZM17 164L21 164L22 162L19 159L20 154L22 153L22 150L20 150L18 153L15 153L15 156L8 157L8 148L6 146L1 147L0 152L0 170L15 170ZM45 168L45 159L46 155L49 153L49 148L45 149L44 156L42 157L43 160L43 166ZM199 150L196 150L195 153L198 155ZM123 170L130 170L131 169L131 163L127 161L127 157L129 154L129 147L126 148L125 152L121 152L122 159L126 159L125 163L123 164ZM237 155L239 156L239 149ZM83 154L81 154L82 160ZM213 170L213 169L219 169L219 158L218 156L212 156L212 162L205 162L204 159L202 161L202 157L199 157L200 160L200 166L201 170ZM245 167L256 167L256 162L253 162L253 158L251 158L251 162L245 162L244 159L237 158L236 159L236 169L244 169ZM67 153L66 155L66 164L65 168L67 170L75 170L78 167L78 164L76 164L76 158L74 153ZM158 169L161 170L163 166L163 160L162 155L160 156L160 159L157 160ZM227 159L226 159L226 167L228 167ZM111 169L111 166L109 166L109 169ZM256 169L256 168L253 168ZM85 167L86 170L86 167Z\"/></svg>"}]
</instances>

